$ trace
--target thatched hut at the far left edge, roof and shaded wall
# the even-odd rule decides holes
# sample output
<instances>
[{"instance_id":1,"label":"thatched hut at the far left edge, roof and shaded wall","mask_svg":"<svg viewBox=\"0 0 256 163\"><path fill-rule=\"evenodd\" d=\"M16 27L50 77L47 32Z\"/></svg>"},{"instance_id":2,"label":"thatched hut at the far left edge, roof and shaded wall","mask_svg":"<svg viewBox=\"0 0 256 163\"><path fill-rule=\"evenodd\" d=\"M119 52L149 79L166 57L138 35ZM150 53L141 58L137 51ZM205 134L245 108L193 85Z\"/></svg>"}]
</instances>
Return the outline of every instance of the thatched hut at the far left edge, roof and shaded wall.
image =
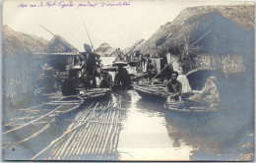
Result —
<instances>
[{"instance_id":1,"label":"thatched hut at the far left edge, roof and shaded wall","mask_svg":"<svg viewBox=\"0 0 256 163\"><path fill-rule=\"evenodd\" d=\"M32 103L31 94L36 84L34 74L37 72L31 54L43 52L47 42L6 25L2 27L3 108Z\"/></svg>"}]
</instances>

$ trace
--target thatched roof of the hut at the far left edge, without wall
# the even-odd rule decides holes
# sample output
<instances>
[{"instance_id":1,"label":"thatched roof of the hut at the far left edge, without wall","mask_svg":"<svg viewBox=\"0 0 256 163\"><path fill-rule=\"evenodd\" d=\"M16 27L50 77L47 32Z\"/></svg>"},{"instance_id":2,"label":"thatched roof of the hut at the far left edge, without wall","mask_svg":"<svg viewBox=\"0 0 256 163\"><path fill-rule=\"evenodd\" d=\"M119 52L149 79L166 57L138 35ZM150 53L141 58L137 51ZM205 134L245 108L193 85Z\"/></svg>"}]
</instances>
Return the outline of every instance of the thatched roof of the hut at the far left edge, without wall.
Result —
<instances>
[{"instance_id":1,"label":"thatched roof of the hut at the far left edge, without wall","mask_svg":"<svg viewBox=\"0 0 256 163\"><path fill-rule=\"evenodd\" d=\"M15 31L6 25L2 27L3 55L18 56L43 52L47 42L44 38Z\"/></svg>"}]
</instances>

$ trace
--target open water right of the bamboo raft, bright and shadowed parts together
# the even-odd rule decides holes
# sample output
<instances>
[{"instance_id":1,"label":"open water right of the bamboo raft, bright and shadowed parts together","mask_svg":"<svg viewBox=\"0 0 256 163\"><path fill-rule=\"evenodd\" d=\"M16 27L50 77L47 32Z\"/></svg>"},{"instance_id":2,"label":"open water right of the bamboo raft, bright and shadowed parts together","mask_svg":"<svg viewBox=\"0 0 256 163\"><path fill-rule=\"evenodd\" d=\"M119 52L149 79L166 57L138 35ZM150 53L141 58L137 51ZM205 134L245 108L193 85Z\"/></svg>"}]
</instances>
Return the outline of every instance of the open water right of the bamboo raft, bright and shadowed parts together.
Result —
<instances>
[{"instance_id":1,"label":"open water right of the bamboo raft, bright and shadowed parts together","mask_svg":"<svg viewBox=\"0 0 256 163\"><path fill-rule=\"evenodd\" d=\"M122 160L252 158L253 123L237 117L241 113L175 113L158 101L143 100L134 90L127 94L122 99L126 111L118 144Z\"/></svg>"}]
</instances>

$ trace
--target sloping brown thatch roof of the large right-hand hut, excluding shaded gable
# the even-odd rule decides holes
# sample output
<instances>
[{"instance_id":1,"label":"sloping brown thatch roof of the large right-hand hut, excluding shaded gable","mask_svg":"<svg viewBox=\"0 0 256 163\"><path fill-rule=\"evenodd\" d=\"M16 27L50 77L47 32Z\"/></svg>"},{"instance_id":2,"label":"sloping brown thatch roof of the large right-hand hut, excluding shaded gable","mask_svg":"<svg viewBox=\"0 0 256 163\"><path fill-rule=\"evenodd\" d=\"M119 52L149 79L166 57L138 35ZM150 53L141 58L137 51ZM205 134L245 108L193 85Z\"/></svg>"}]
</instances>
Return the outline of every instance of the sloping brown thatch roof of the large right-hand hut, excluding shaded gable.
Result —
<instances>
[{"instance_id":1,"label":"sloping brown thatch roof of the large right-hand hut, excluding shaded gable","mask_svg":"<svg viewBox=\"0 0 256 163\"><path fill-rule=\"evenodd\" d=\"M254 30L254 5L191 7L183 10L173 22L160 27L139 50L143 54L158 52L159 55L179 50L193 30L215 14L245 31ZM215 21L218 24L218 20Z\"/></svg>"}]
</instances>

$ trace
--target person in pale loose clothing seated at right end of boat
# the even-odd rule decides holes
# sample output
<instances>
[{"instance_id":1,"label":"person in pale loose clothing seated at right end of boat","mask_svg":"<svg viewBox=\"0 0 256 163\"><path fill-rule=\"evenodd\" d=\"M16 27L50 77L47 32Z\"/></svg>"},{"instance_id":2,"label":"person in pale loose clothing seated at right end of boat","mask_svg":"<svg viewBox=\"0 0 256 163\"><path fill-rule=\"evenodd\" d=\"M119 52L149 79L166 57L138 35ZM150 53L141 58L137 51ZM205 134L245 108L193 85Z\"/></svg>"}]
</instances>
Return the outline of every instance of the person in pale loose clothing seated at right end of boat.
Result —
<instances>
[{"instance_id":1,"label":"person in pale loose clothing seated at right end of boat","mask_svg":"<svg viewBox=\"0 0 256 163\"><path fill-rule=\"evenodd\" d=\"M219 107L221 104L216 78L209 77L202 90L193 90L194 95L188 98L190 103L203 103L205 106Z\"/></svg>"}]
</instances>

